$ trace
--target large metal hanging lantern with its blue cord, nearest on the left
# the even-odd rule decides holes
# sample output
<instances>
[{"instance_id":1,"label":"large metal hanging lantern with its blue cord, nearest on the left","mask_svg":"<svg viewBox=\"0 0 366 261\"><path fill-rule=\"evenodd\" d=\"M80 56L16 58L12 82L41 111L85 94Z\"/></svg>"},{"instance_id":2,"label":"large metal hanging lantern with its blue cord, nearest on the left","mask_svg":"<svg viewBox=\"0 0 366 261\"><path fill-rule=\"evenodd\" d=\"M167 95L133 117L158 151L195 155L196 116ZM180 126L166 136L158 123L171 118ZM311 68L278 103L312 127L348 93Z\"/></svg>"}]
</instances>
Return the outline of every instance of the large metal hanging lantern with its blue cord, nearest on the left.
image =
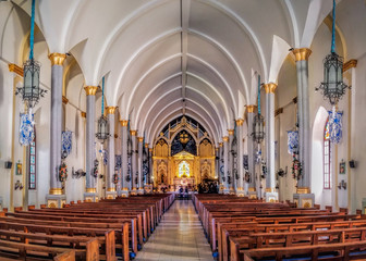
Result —
<instances>
[{"instance_id":1,"label":"large metal hanging lantern with its blue cord, nearest on the left","mask_svg":"<svg viewBox=\"0 0 366 261\"><path fill-rule=\"evenodd\" d=\"M16 89L15 95L21 94L27 109L34 108L39 99L47 94L47 90L39 88L39 72L40 63L34 60L34 17L35 17L35 0L32 1L32 17L30 17L30 37L29 37L29 59L23 65L24 86Z\"/></svg>"}]
</instances>

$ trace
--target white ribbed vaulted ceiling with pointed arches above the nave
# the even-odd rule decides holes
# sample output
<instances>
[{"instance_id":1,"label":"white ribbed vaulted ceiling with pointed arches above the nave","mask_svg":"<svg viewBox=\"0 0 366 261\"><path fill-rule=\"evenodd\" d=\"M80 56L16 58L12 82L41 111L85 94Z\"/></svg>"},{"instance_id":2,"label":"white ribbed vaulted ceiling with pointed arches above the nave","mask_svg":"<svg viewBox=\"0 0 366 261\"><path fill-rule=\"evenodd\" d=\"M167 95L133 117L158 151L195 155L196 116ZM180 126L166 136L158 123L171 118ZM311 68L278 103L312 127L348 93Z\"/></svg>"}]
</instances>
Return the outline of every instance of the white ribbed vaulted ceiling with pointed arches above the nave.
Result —
<instances>
[{"instance_id":1,"label":"white ribbed vaulted ceiling with pointed arches above the nave","mask_svg":"<svg viewBox=\"0 0 366 261\"><path fill-rule=\"evenodd\" d=\"M30 2L13 0L30 12ZM152 140L183 113L218 141L276 82L289 49L309 47L331 0L37 0L49 52L70 52L85 85Z\"/></svg>"}]
</instances>

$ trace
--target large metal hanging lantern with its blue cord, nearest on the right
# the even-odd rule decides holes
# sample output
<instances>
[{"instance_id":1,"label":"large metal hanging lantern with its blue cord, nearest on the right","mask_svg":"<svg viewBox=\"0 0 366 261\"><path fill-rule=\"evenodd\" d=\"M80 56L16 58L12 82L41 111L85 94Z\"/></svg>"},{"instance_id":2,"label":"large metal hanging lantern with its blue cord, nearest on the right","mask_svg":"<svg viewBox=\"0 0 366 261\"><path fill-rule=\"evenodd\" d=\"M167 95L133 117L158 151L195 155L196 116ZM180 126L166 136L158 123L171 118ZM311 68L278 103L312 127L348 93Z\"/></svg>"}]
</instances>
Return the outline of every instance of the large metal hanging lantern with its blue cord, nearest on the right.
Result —
<instances>
[{"instance_id":1,"label":"large metal hanging lantern with its blue cord, nearest on the right","mask_svg":"<svg viewBox=\"0 0 366 261\"><path fill-rule=\"evenodd\" d=\"M349 88L343 83L343 58L335 53L335 0L333 0L331 52L324 60L324 82L316 90L321 91L331 105L335 105Z\"/></svg>"}]
</instances>

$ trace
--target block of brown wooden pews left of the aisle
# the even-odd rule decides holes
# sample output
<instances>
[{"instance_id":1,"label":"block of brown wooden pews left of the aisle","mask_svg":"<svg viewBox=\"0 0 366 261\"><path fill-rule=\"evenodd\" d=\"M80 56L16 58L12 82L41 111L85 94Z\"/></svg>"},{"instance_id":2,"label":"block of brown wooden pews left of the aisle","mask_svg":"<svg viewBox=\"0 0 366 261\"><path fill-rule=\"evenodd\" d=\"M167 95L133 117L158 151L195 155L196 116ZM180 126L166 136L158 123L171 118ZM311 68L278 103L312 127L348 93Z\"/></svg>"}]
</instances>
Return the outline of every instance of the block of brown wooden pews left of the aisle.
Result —
<instances>
[{"instance_id":1,"label":"block of brown wooden pews left of the aisle","mask_svg":"<svg viewBox=\"0 0 366 261\"><path fill-rule=\"evenodd\" d=\"M0 257L130 260L143 248L173 200L173 195L159 194L71 202L63 209L0 212Z\"/></svg>"}]
</instances>

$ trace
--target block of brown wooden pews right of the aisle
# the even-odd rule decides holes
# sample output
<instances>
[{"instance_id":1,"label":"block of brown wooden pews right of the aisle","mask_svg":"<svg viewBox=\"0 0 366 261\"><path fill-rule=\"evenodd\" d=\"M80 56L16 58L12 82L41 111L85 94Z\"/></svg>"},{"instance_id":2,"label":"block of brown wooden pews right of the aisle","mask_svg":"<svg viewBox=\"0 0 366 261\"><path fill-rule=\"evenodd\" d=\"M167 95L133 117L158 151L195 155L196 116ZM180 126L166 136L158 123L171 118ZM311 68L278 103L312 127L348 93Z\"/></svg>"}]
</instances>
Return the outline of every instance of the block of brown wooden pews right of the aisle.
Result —
<instances>
[{"instance_id":1,"label":"block of brown wooden pews right of the aisle","mask_svg":"<svg viewBox=\"0 0 366 261\"><path fill-rule=\"evenodd\" d=\"M195 209L220 261L363 260L366 217L223 195L195 195Z\"/></svg>"}]
</instances>

